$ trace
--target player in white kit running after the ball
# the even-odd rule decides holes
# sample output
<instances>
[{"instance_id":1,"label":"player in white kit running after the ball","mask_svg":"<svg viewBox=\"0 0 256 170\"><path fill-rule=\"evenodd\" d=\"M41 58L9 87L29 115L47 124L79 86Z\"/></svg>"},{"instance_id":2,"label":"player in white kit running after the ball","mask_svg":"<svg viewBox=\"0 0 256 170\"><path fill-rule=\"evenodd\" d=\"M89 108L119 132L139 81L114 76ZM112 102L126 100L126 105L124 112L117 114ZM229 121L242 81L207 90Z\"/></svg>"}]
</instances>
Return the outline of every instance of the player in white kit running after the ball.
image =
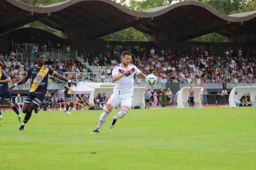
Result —
<instances>
[{"instance_id":1,"label":"player in white kit running after the ball","mask_svg":"<svg viewBox=\"0 0 256 170\"><path fill-rule=\"evenodd\" d=\"M146 75L142 73L135 65L130 64L132 60L132 54L129 52L122 53L122 63L114 67L112 71L112 78L115 81L115 87L113 94L110 96L105 111L101 114L97 129L91 132L91 134L99 133L101 126L106 122L106 119L110 112L119 103L121 103L121 111L113 117L110 123L110 128L114 128L116 121L119 118L123 118L132 106L133 96L133 83L134 74L139 75L142 79L146 79Z\"/></svg>"}]
</instances>

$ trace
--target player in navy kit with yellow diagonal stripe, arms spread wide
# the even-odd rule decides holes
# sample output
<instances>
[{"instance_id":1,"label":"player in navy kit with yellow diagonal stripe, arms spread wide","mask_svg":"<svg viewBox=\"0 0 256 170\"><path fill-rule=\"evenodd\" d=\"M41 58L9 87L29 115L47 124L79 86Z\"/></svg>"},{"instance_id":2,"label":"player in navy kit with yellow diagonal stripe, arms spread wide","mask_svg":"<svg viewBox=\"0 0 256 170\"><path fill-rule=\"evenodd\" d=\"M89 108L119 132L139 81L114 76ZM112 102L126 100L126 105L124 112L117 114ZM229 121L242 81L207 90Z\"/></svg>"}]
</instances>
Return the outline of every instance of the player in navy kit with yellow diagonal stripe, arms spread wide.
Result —
<instances>
[{"instance_id":1,"label":"player in navy kit with yellow diagonal stripe, arms spread wide","mask_svg":"<svg viewBox=\"0 0 256 170\"><path fill-rule=\"evenodd\" d=\"M41 105L47 91L49 74L53 75L54 77L57 77L62 81L68 81L71 84L74 84L76 86L76 82L72 82L71 80L68 80L67 78L55 72L51 67L44 65L45 55L43 53L38 53L36 55L36 59L37 59L37 64L34 66L31 66L28 69L27 75L23 79L21 79L20 81L18 81L17 83L15 83L10 87L10 90L12 90L14 87L28 81L28 79L31 77L31 86L30 86L29 94L22 108L22 112L25 113L26 116L23 120L22 125L19 128L19 131L24 130L24 126L26 125L26 123L28 123L33 110L35 109L35 113L38 112L37 108Z\"/></svg>"}]
</instances>

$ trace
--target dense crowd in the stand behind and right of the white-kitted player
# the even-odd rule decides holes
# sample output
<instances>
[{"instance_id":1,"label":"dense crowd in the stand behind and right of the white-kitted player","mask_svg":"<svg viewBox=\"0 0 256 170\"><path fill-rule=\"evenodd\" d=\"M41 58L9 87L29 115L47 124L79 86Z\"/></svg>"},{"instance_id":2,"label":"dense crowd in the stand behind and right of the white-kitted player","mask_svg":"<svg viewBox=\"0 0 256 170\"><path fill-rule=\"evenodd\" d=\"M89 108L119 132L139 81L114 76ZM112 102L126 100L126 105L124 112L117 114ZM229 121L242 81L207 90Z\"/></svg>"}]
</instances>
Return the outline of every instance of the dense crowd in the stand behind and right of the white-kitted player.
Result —
<instances>
[{"instance_id":1,"label":"dense crowd in the stand behind and right of the white-kitted player","mask_svg":"<svg viewBox=\"0 0 256 170\"><path fill-rule=\"evenodd\" d=\"M232 49L217 55L211 50L196 48L193 55L169 49L111 49L100 53L85 53L91 65L107 66L102 71L102 81L111 78L111 69L121 61L123 50L129 50L132 63L146 74L153 73L159 82L166 83L223 83L256 82L256 52L253 49ZM139 78L136 80L140 82Z\"/></svg>"}]
</instances>

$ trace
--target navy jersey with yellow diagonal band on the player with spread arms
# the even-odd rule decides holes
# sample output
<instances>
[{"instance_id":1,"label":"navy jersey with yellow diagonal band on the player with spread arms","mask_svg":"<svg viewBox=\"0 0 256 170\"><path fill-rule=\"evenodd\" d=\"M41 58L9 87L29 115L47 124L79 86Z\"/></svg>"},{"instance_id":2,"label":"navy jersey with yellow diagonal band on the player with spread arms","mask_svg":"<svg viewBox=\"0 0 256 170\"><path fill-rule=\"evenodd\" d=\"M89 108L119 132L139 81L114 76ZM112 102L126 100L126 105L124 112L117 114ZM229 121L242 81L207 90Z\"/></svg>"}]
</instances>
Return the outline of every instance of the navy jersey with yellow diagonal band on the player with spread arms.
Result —
<instances>
[{"instance_id":1,"label":"navy jersey with yellow diagonal band on the player with spread arms","mask_svg":"<svg viewBox=\"0 0 256 170\"><path fill-rule=\"evenodd\" d=\"M42 67L31 66L28 69L28 75L31 78L29 92L46 94L49 74L54 75L55 71L47 65Z\"/></svg>"}]
</instances>

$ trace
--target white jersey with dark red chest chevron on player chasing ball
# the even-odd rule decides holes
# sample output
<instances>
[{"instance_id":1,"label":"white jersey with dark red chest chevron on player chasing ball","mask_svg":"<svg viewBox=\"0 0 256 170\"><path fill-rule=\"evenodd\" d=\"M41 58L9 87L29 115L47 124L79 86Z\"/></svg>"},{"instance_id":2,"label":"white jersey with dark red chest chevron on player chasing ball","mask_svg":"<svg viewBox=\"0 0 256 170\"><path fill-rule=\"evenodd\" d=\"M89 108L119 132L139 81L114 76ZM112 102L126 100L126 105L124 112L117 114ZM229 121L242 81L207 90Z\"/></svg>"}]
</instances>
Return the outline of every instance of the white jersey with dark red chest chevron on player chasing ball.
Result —
<instances>
[{"instance_id":1,"label":"white jersey with dark red chest chevron on player chasing ball","mask_svg":"<svg viewBox=\"0 0 256 170\"><path fill-rule=\"evenodd\" d=\"M140 70L137 68L137 66L133 64L129 64L127 68L124 68L121 66L121 64L118 64L114 67L112 71L112 77L113 75L121 75L125 70L129 70L129 73L124 75L121 79L117 80L115 82L115 87L113 92L121 92L122 94L126 95L133 95L133 84L134 84L134 74L138 75L140 73Z\"/></svg>"}]
</instances>

